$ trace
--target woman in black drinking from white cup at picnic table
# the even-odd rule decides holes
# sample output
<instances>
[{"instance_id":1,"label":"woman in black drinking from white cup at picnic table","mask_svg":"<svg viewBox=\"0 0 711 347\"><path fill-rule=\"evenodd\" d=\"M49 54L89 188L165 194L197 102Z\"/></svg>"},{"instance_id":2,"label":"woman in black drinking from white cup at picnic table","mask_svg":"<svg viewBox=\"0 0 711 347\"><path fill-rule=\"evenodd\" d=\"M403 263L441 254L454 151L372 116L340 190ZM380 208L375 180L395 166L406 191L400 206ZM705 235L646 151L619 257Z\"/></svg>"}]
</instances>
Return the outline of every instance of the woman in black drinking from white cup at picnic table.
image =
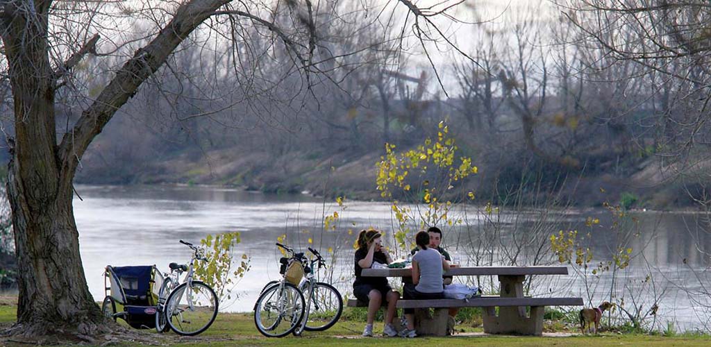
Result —
<instances>
[{"instance_id":1,"label":"woman in black drinking from white cup at picnic table","mask_svg":"<svg viewBox=\"0 0 711 347\"><path fill-rule=\"evenodd\" d=\"M362 277L363 269L373 266L373 262L390 264L392 259L383 247L383 234L375 229L361 230L358 234L358 250L355 250L355 282L353 282L353 295L360 301L368 302L368 320L363 329L363 336L373 336L373 321L375 314L380 309L383 299L387 301L385 314L385 327L383 334L397 336L392 319L395 318L395 304L400 299L400 292L392 290L387 283L387 277Z\"/></svg>"}]
</instances>

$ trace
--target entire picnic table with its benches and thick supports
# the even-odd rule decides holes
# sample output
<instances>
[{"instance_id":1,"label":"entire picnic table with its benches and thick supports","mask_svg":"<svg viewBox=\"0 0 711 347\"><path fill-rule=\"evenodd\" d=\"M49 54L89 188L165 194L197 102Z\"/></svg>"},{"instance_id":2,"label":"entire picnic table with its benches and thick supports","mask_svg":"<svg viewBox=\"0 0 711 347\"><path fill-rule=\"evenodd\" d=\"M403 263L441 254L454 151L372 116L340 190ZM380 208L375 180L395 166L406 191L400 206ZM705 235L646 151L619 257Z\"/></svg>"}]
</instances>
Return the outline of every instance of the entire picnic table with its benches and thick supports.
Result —
<instances>
[{"instance_id":1,"label":"entire picnic table with its benches and thick supports","mask_svg":"<svg viewBox=\"0 0 711 347\"><path fill-rule=\"evenodd\" d=\"M421 335L444 336L447 334L449 307L483 307L483 328L485 333L513 333L536 335L543 333L543 310L545 306L582 306L582 298L577 297L525 297L523 282L526 276L547 274L568 274L567 267L452 267L444 272L446 276L497 276L501 283L498 296L485 296L465 300L405 300L397 301L399 308L434 309L432 318L415 312L415 329ZM410 277L412 269L363 269L364 277ZM385 302L385 301L383 301ZM348 300L348 306L368 306L355 299ZM496 314L498 307L498 315ZM530 315L526 312L530 307ZM423 319L424 317L427 317Z\"/></svg>"}]
</instances>

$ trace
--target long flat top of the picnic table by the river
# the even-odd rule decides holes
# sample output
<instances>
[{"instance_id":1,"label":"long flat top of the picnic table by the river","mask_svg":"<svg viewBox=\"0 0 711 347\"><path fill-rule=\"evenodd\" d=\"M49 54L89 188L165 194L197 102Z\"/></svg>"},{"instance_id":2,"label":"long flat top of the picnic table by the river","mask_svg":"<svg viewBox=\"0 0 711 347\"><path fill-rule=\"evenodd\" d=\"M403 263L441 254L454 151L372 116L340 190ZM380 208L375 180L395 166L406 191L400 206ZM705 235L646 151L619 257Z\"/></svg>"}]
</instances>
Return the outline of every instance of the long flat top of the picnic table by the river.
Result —
<instances>
[{"instance_id":1,"label":"long flat top of the picnic table by the river","mask_svg":"<svg viewBox=\"0 0 711 347\"><path fill-rule=\"evenodd\" d=\"M526 276L530 274L568 274L565 266L478 266L452 267L445 276ZM411 277L412 269L363 269L363 277Z\"/></svg>"}]
</instances>

